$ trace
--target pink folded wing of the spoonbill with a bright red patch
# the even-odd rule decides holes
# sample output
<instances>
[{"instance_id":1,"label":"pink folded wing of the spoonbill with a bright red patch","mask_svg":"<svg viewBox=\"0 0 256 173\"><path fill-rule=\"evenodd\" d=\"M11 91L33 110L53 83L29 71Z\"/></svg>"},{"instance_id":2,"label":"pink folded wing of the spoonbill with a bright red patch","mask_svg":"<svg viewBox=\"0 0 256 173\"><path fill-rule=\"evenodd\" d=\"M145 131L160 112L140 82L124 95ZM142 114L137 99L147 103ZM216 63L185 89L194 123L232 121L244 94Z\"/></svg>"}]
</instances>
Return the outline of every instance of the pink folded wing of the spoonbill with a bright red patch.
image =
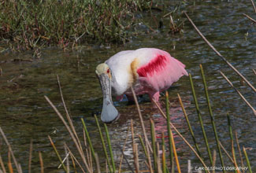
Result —
<instances>
[{"instance_id":1,"label":"pink folded wing of the spoonbill with a bright red patch","mask_svg":"<svg viewBox=\"0 0 256 173\"><path fill-rule=\"evenodd\" d=\"M156 91L167 90L181 76L187 75L185 65L160 50L147 64L137 69L139 81Z\"/></svg>"}]
</instances>

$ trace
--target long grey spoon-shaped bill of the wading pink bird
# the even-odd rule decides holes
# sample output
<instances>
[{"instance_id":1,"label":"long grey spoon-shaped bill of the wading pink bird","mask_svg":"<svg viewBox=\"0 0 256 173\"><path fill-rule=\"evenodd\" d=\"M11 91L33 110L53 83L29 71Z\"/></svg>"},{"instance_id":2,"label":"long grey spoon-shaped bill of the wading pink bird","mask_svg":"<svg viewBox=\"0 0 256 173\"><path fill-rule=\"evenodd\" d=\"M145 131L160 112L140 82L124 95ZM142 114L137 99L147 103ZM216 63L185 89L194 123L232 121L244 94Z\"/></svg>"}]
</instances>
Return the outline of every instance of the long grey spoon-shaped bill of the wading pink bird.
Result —
<instances>
[{"instance_id":1,"label":"long grey spoon-shaped bill of the wading pink bird","mask_svg":"<svg viewBox=\"0 0 256 173\"><path fill-rule=\"evenodd\" d=\"M99 82L102 86L103 94L103 107L101 120L104 123L111 123L114 120L117 120L119 113L117 109L113 106L112 96L111 96L111 82L109 76L105 73L98 75Z\"/></svg>"}]
</instances>

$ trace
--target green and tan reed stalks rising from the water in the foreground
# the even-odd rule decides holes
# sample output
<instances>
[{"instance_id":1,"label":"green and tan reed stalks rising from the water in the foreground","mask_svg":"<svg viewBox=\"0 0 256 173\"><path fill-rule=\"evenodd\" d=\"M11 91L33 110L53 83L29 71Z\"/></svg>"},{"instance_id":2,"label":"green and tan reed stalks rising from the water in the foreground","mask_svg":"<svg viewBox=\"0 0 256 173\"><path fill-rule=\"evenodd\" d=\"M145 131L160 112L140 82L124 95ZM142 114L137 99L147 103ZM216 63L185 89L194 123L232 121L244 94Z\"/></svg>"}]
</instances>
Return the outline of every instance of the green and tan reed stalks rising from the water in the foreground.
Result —
<instances>
[{"instance_id":1,"label":"green and tan reed stalks rising from the water in the foreground","mask_svg":"<svg viewBox=\"0 0 256 173\"><path fill-rule=\"evenodd\" d=\"M236 136L236 145L238 146L237 149L235 149L234 147L234 138L233 138L233 131L232 131L232 126L231 126L231 120L230 120L230 116L228 115L228 124L227 124L227 130L229 131L229 136L230 136L230 148L228 150L232 151L231 153L228 153L227 149L224 148L223 145L221 145L221 142L218 138L220 132L218 132L215 128L215 121L214 121L214 116L213 116L213 112L210 109L210 98L208 95L208 91L207 91L207 86L206 86L206 77L203 73L203 69L202 66L200 65L201 68L201 73L202 73L202 83L204 83L205 86L205 93L206 93L206 100L208 102L207 107L210 110L210 119L212 121L212 126L213 126L213 133L214 136L216 138L215 144L214 145L208 145L209 147L209 152L212 153L213 152L213 162L210 162L210 157L209 156L204 156L202 155L202 150L207 148L207 144L205 145L198 145L198 143L196 142L196 138L193 132L193 128L191 127L191 123L189 122L189 119L187 117L187 113L186 110L184 109L184 105L183 102L180 98L180 94L178 94L178 98L180 101L180 106L184 112L184 116L185 119L187 120L187 125L188 128L190 130L190 134L192 137L192 141L189 142L183 134L180 134L180 131L175 127L175 125L170 121L169 119L169 94L168 92L165 93L165 102L166 104L166 110L167 112L164 112L159 105L154 102L156 104L156 106L158 107L159 111L161 112L161 115L165 117L166 119L166 126L169 128L168 129L168 138L169 138L169 142L165 142L165 138L164 138L164 133L162 133L162 138L161 139L157 139L155 138L155 125L154 125L154 120L149 120L150 121L150 134L148 134L145 131L145 121L148 120L143 120L143 116L142 113L139 109L139 104L138 101L136 100L135 94L134 94L134 98L135 98L135 104L136 107L138 109L138 114L139 114L139 119L141 120L141 129L143 132L143 136L141 135L137 135L137 132L134 130L133 128L133 123L131 121L131 128L128 131L128 134L131 133L132 134L132 138L128 138L128 134L127 137L125 139L124 142L124 146L121 148L121 153L122 156L120 156L121 158L124 158L125 162L120 161L119 162L119 168L117 168L117 160L114 160L114 154L113 154L113 147L111 144L111 137L109 136L109 131L108 131L108 127L106 124L103 124L103 129L104 129L104 134L102 133L102 124L101 122L98 122L98 118L97 116L95 116L95 121L97 123L97 127L98 127L98 134L93 134L95 135L99 135L101 138L101 142L102 142L102 149L104 150L104 154L105 154L105 158L103 158L103 160L99 160L98 158L98 153L99 151L96 151L94 148L94 145L92 145L91 143L91 135L90 131L87 131L87 127L86 127L86 122L81 119L81 126L83 126L83 139L80 139L80 137L77 135L76 133L76 128L74 127L72 120L69 116L69 112L68 109L65 106L65 101L62 95L62 91L61 91L61 83L59 82L58 79L58 84L59 84L59 88L60 88L60 94L61 94L61 100L63 102L64 108L65 108L65 114L66 114L66 118L64 116L61 115L61 113L58 111L58 109L54 106L54 104L50 101L49 98L46 98L46 101L48 101L48 103L50 104L50 106L54 109L54 111L57 113L57 115L59 116L59 118L61 119L62 123L64 123L65 128L67 129L67 131L69 131L69 135L70 138L72 138L72 142L74 143L75 147L72 147L72 149L69 149L69 146L64 144L63 148L65 149L65 153L63 152L59 152L58 149L55 147L54 144L54 140L52 140L52 138L50 138L50 136L48 136L49 140L50 140L50 144L53 146L53 150L56 153L56 156L58 157L59 163L61 164L61 167L63 169L63 171L65 172L117 172L116 170L118 169L118 172L121 172L122 169L122 164L127 164L129 171L131 172L141 172L141 171L147 171L147 172L173 172L173 171L178 171L181 172L181 168L180 168L180 160L184 160L184 158L179 158L179 152L176 151L176 143L174 141L173 138L173 134L177 134L178 136L180 136L180 138L186 143L186 145L188 146L189 149L191 149L192 153L195 154L195 156L197 156L198 160L201 162L203 167L211 167L211 166L216 166L216 162L217 160L220 161L221 166L230 166L230 164L233 164L234 167L239 167L239 166L247 166L248 167L248 171L252 172L251 167L250 167L250 160L247 156L247 151L243 146L243 156L245 158L245 162L247 164L243 164L243 156L241 153L241 149L239 146L239 141L237 139L237 134ZM190 75L191 76L191 75ZM191 82L191 86L193 86L193 83ZM194 88L192 87L192 90ZM133 89L132 89L133 91ZM192 92L195 95L195 90ZM196 101L195 101L196 104ZM195 106L195 110L198 112L198 108L197 106ZM203 120L199 120L198 122L203 124ZM21 169L20 164L17 162L14 154L13 154L13 150L11 148L11 146L9 145L9 142L6 138L6 135L4 134L4 132L2 131L2 128L0 127L0 133L2 134L2 137L4 139L4 141L6 142L6 145L9 149L8 152L8 158L7 158L7 164L4 163L4 160L2 160L2 157L0 156L0 172L23 172ZM150 140L148 139L148 135L151 136ZM204 135L202 134L202 136L200 138L204 138ZM139 139L137 142L137 140L135 139ZM126 156L124 155L124 151L126 149L125 143L128 140L132 140L132 153L133 153L133 157L132 158L126 158ZM82 145L84 144L84 145ZM216 148L215 148L216 147ZM215 152L215 149L217 149L218 151L218 155L219 155L219 159L217 159L217 153ZM224 151L224 153L222 153L221 149ZM207 149L208 150L208 149ZM236 150L238 150L238 152L235 152ZM160 153L161 151L161 153ZM32 142L30 145L30 149L29 149L29 164L28 164L28 170L29 172L31 171L31 159L32 159ZM144 156L141 156L141 154L139 155L139 153L144 153ZM240 164L236 161L236 153L239 153L239 158L240 158ZM222 154L225 154L228 156L228 158L230 159L230 162L228 162L228 160L225 160L225 162L221 162L222 159ZM61 156L65 155L65 159L61 158ZM169 155L169 159L166 158L166 156ZM141 156L139 158L139 156ZM72 164L69 164L69 160L72 160ZM129 160L133 160L133 164L131 165L129 162ZM210 165L206 164L206 161L210 163ZM102 165L102 163L106 163L106 165ZM189 162L191 163L191 162ZM39 152L39 164L41 167L41 172L44 172L44 164L43 164L43 153ZM56 165L56 167L58 167L58 165ZM105 167L105 168L103 168ZM191 164L187 165L187 169L191 169ZM127 170L127 168L126 168ZM194 170L190 170L190 171L194 171ZM206 170L206 172L210 172L208 170ZM214 171L213 171L214 172ZM223 171L225 172L225 171ZM241 172L239 170L237 170L236 172Z\"/></svg>"}]
</instances>

